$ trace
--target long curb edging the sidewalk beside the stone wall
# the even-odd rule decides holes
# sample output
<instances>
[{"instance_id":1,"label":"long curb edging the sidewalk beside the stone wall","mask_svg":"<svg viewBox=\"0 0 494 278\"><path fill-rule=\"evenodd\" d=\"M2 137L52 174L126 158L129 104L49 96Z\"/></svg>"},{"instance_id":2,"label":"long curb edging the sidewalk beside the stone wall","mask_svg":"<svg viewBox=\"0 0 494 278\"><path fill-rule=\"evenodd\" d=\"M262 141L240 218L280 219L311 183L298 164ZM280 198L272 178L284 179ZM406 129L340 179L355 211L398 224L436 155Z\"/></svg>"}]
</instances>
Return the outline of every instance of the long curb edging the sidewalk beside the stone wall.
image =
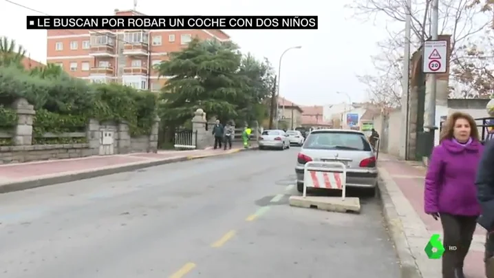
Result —
<instances>
[{"instance_id":1,"label":"long curb edging the sidewalk beside the stone wall","mask_svg":"<svg viewBox=\"0 0 494 278\"><path fill-rule=\"evenodd\" d=\"M175 162L184 162L184 161L188 161L188 160L207 158L207 157L211 157L211 156L225 156L225 155L232 154L232 153L238 153L240 151L251 151L251 150L255 150L255 149L259 149L259 147L252 147L249 149L238 149L238 150L234 150L230 153L218 153L218 154L206 155L206 156L180 156L180 157L168 158L168 159L163 159L163 160L153 160L153 161L147 161L147 162L134 162L132 164L125 164L125 165L117 166L117 167L106 167L103 169L96 169L96 170L89 170L89 171L87 171L87 170L73 171L73 172L69 172L65 175L58 175L58 174L45 175L45 176L41 176L38 178L12 181L12 182L6 182L4 184L0 184L0 194L14 192L14 191L23 191L26 189L35 189L36 187L61 184L64 182L75 182L76 180L87 180L90 178L96 178L96 177L100 177L103 175L113 175L116 173L136 171L138 169L160 166L160 165L164 165L164 164L171 164L171 163L175 163Z\"/></svg>"}]
</instances>

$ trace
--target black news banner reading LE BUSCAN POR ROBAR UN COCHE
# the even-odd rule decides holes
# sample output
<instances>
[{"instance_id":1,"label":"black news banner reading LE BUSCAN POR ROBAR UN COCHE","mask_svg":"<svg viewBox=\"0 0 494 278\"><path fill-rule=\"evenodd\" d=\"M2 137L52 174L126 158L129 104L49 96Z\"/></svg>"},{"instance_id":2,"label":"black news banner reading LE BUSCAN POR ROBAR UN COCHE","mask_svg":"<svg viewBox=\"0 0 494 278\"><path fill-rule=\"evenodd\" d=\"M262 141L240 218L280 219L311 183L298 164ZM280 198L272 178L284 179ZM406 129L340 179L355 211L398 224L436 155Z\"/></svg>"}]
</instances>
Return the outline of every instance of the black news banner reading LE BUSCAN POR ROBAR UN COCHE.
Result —
<instances>
[{"instance_id":1,"label":"black news banner reading LE BUSCAN POR ROBAR UN COCHE","mask_svg":"<svg viewBox=\"0 0 494 278\"><path fill-rule=\"evenodd\" d=\"M28 29L284 29L316 30L317 16L36 17Z\"/></svg>"}]
</instances>

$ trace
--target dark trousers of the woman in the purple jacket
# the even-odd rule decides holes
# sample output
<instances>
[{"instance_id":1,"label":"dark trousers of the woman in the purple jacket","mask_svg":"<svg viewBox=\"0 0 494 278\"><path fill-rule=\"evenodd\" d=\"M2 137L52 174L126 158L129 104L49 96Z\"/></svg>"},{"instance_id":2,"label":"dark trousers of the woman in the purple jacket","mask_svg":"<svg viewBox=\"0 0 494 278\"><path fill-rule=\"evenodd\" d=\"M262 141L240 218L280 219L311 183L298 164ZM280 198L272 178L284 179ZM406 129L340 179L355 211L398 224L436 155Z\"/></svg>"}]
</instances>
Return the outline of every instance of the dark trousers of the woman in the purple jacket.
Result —
<instances>
[{"instance_id":1,"label":"dark trousers of the woman in the purple jacket","mask_svg":"<svg viewBox=\"0 0 494 278\"><path fill-rule=\"evenodd\" d=\"M469 253L477 216L441 213L444 233L444 255L442 255L442 278L464 278L463 263Z\"/></svg>"}]
</instances>

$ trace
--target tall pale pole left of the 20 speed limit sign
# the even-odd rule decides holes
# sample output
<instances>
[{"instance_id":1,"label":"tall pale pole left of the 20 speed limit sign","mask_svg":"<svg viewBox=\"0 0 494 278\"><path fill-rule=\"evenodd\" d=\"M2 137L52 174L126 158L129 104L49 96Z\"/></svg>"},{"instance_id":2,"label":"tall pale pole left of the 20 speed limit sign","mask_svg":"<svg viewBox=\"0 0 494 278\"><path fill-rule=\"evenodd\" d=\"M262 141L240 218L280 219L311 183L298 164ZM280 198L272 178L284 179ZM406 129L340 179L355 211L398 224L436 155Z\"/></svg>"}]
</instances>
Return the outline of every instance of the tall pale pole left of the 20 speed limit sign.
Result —
<instances>
[{"instance_id":1,"label":"tall pale pole left of the 20 speed limit sign","mask_svg":"<svg viewBox=\"0 0 494 278\"><path fill-rule=\"evenodd\" d=\"M411 0L406 1L405 7L405 53L403 55L403 72L402 72L402 127L401 146L399 150L400 158L407 159L408 156L408 136L409 136L409 86L410 86L410 41L411 41Z\"/></svg>"}]
</instances>

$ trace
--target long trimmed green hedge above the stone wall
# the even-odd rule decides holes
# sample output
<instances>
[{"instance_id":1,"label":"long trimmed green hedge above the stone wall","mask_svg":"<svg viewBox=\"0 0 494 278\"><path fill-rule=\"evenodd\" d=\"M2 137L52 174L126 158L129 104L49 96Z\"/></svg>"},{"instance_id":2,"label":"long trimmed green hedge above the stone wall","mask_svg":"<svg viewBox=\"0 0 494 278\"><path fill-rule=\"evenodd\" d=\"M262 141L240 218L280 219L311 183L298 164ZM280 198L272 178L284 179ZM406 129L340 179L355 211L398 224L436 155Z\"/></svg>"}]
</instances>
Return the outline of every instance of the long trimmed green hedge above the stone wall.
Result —
<instances>
[{"instance_id":1,"label":"long trimmed green hedge above the stone wall","mask_svg":"<svg viewBox=\"0 0 494 278\"><path fill-rule=\"evenodd\" d=\"M116 83L90 84L65 73L0 66L0 129L17 124L17 114L5 108L17 98L27 99L36 110L34 144L82 142L81 138L47 139L42 135L83 131L90 118L127 122L132 136L147 135L157 115L156 96L151 92Z\"/></svg>"}]
</instances>

